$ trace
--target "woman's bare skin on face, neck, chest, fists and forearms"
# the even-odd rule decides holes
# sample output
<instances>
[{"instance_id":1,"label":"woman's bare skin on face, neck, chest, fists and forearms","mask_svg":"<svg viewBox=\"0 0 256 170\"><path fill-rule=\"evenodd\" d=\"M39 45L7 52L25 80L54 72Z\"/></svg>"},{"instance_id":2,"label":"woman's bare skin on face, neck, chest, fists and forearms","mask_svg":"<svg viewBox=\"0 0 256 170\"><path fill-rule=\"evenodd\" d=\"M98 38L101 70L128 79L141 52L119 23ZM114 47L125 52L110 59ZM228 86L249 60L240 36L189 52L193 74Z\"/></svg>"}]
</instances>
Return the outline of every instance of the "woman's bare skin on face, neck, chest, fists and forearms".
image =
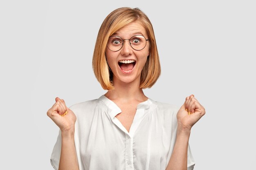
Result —
<instances>
[{"instance_id":1,"label":"woman's bare skin on face, neck, chest, fists and forearms","mask_svg":"<svg viewBox=\"0 0 256 170\"><path fill-rule=\"evenodd\" d=\"M148 39L146 30L139 22L132 22L119 29L115 35L130 39L133 35L144 35ZM141 51L132 49L128 40L119 51L106 49L106 58L113 72L114 90L108 91L105 96L115 102L121 109L116 117L129 132L137 105L148 99L139 88L140 75L149 55L149 44ZM118 61L135 60L136 64L131 73L121 71ZM76 152L74 146L74 124L76 116L66 107L63 99L56 97L56 103L47 111L47 115L61 129L62 148L59 170L78 170ZM188 111L191 113L188 114ZM67 110L67 115L61 116ZM177 113L177 138L170 161L166 170L187 169L187 149L192 126L205 114L204 107L195 99L194 95L186 97L184 104Z\"/></svg>"}]
</instances>

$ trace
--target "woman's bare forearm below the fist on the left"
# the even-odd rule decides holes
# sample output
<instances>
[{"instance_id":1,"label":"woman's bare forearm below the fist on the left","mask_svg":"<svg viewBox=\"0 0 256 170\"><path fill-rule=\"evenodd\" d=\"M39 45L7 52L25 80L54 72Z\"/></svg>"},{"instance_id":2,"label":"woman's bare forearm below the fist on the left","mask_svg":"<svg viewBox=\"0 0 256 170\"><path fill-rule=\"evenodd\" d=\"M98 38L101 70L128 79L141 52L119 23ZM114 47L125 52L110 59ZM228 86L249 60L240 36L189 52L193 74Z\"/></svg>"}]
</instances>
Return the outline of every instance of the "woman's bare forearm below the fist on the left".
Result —
<instances>
[{"instance_id":1,"label":"woman's bare forearm below the fist on the left","mask_svg":"<svg viewBox=\"0 0 256 170\"><path fill-rule=\"evenodd\" d=\"M61 158L58 170L79 170L76 158L74 134L61 133Z\"/></svg>"}]
</instances>

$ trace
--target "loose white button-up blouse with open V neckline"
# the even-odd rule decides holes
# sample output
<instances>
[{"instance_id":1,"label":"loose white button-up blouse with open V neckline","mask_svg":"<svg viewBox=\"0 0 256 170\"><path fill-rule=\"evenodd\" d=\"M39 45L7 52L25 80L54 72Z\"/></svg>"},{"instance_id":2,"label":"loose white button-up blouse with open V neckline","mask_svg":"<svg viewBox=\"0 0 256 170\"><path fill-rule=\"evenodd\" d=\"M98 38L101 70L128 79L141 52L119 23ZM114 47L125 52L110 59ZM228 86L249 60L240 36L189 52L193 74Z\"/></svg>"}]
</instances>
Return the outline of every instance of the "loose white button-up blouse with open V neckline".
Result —
<instances>
[{"instance_id":1,"label":"loose white button-up blouse with open V neckline","mask_svg":"<svg viewBox=\"0 0 256 170\"><path fill-rule=\"evenodd\" d=\"M79 170L165 170L177 134L178 107L148 99L138 104L130 132L115 117L121 109L106 96L74 104L74 142ZM61 130L51 164L58 170ZM188 170L195 161L188 148Z\"/></svg>"}]
</instances>

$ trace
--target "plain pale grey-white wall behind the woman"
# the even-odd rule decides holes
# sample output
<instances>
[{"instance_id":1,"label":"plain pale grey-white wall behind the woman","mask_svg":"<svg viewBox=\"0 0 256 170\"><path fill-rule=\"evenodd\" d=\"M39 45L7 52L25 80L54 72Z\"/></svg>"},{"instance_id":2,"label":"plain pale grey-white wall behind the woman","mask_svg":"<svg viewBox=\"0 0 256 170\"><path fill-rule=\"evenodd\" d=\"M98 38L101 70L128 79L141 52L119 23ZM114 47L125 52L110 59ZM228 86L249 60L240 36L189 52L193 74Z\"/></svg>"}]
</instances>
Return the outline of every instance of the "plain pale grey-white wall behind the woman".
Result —
<instances>
[{"instance_id":1,"label":"plain pale grey-white wall behind the woman","mask_svg":"<svg viewBox=\"0 0 256 170\"><path fill-rule=\"evenodd\" d=\"M55 97L67 106L106 93L92 72L99 27L139 7L153 23L162 75L148 97L206 115L192 129L195 170L253 170L256 160L256 2L253 0L0 2L1 170L53 170Z\"/></svg>"}]
</instances>

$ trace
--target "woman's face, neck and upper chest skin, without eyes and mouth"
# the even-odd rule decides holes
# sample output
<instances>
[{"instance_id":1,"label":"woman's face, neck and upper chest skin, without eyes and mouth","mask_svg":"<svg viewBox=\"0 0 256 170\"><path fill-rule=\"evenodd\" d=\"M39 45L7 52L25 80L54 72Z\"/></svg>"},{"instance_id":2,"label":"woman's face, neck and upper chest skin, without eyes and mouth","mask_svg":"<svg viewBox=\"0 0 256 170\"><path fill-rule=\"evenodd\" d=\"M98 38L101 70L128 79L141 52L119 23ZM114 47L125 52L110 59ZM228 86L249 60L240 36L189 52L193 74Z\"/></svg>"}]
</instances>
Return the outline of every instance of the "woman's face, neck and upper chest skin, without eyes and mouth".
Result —
<instances>
[{"instance_id":1,"label":"woman's face, neck and upper chest skin, without eyes and mouth","mask_svg":"<svg viewBox=\"0 0 256 170\"><path fill-rule=\"evenodd\" d=\"M115 35L130 39L133 35L148 36L146 30L139 22L132 22L119 29ZM116 117L129 132L132 120L136 113L137 105L148 99L141 89L139 89L140 75L149 55L149 44L140 51L132 49L128 40L119 51L106 49L108 65L113 72L114 90L108 91L105 96L115 102L122 110ZM136 64L131 73L124 73L118 65L120 60L135 60Z\"/></svg>"}]
</instances>

